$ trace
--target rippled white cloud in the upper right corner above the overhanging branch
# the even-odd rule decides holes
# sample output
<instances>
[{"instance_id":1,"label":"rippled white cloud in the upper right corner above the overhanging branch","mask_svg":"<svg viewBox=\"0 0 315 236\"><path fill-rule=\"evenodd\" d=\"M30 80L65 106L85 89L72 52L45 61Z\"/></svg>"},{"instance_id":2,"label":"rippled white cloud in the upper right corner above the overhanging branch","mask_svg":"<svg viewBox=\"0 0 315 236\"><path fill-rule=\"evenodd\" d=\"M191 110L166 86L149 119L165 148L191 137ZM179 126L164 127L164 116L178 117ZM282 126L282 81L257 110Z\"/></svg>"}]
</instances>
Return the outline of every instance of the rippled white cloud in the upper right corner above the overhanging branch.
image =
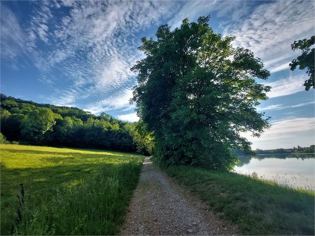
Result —
<instances>
[{"instance_id":1,"label":"rippled white cloud in the upper right corner above the overhanging branch","mask_svg":"<svg viewBox=\"0 0 315 236\"><path fill-rule=\"evenodd\" d=\"M251 49L272 72L289 68L295 40L314 34L315 9L310 1L266 1L248 17L223 25L224 35L235 35L235 46Z\"/></svg>"}]
</instances>

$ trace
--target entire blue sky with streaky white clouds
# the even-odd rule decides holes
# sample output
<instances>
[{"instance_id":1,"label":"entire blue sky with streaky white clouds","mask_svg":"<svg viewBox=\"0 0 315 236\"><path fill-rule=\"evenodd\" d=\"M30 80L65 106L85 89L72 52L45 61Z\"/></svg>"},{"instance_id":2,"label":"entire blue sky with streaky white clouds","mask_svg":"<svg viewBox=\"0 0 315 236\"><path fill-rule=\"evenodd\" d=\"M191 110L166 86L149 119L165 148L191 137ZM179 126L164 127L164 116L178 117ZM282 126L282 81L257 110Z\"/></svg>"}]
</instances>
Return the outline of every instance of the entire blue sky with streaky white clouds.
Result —
<instances>
[{"instance_id":1,"label":"entire blue sky with streaky white clouds","mask_svg":"<svg viewBox=\"0 0 315 236\"><path fill-rule=\"evenodd\" d=\"M272 89L257 111L272 126L260 138L243 134L252 148L315 143L314 89L304 90L306 70L289 68L301 54L291 44L315 34L315 1L1 0L0 7L0 91L7 96L136 121L130 67L144 57L141 37L210 15L214 32L235 35L233 46L252 50L271 72L258 81Z\"/></svg>"}]
</instances>

